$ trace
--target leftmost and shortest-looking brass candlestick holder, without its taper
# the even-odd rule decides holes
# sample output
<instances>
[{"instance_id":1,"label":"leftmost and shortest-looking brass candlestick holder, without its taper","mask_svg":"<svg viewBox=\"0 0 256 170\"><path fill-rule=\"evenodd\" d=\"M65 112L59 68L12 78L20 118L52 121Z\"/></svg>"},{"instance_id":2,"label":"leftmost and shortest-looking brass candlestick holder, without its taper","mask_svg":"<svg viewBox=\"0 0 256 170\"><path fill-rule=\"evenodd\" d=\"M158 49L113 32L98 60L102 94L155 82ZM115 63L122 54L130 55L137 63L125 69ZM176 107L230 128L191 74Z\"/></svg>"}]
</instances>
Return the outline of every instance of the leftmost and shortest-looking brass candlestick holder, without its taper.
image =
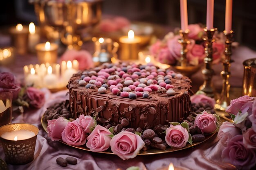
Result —
<instances>
[{"instance_id":1,"label":"leftmost and shortest-looking brass candlestick holder, without its taper","mask_svg":"<svg viewBox=\"0 0 256 170\"><path fill-rule=\"evenodd\" d=\"M182 45L182 49L180 51L180 66L186 67L187 66L187 58L186 58L186 53L188 52L188 49L186 46L190 44L189 38L189 30L187 29L186 31L180 30L180 36L182 37L178 42Z\"/></svg>"}]
</instances>

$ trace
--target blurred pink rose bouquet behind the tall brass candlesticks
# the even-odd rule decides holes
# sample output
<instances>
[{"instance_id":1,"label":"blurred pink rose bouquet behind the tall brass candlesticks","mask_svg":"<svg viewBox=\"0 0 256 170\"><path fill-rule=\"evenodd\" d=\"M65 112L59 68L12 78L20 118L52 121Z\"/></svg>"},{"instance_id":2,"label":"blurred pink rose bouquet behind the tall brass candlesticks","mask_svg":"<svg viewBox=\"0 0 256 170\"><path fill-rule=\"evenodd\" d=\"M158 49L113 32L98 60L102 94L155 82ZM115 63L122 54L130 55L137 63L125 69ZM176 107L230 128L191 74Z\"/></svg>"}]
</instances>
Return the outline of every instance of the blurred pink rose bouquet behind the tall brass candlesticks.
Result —
<instances>
[{"instance_id":1,"label":"blurred pink rose bouquet behind the tall brass candlesticks","mask_svg":"<svg viewBox=\"0 0 256 170\"><path fill-rule=\"evenodd\" d=\"M189 25L189 40L190 44L187 45L187 59L190 65L197 66L203 62L205 57L205 43L203 40L203 27L200 24ZM213 63L218 63L225 50L224 38L222 33L216 33L214 36L216 41L213 42ZM180 61L181 44L178 42L181 36L178 31L168 33L163 40L157 40L150 46L150 53L155 58L164 64L176 65Z\"/></svg>"}]
</instances>

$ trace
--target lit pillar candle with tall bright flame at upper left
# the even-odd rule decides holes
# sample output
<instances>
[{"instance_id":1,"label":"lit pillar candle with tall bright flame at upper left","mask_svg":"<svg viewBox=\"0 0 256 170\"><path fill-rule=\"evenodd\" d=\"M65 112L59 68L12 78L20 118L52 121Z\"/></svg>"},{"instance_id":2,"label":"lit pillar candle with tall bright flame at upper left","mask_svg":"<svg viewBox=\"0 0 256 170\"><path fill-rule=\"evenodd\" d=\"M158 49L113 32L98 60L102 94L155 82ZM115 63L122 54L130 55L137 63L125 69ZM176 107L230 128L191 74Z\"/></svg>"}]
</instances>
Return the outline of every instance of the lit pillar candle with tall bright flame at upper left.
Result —
<instances>
[{"instance_id":1,"label":"lit pillar candle with tall bright flame at upper left","mask_svg":"<svg viewBox=\"0 0 256 170\"><path fill-rule=\"evenodd\" d=\"M40 41L40 36L36 32L36 26L33 22L29 24L29 51L35 51L35 46Z\"/></svg>"}]
</instances>

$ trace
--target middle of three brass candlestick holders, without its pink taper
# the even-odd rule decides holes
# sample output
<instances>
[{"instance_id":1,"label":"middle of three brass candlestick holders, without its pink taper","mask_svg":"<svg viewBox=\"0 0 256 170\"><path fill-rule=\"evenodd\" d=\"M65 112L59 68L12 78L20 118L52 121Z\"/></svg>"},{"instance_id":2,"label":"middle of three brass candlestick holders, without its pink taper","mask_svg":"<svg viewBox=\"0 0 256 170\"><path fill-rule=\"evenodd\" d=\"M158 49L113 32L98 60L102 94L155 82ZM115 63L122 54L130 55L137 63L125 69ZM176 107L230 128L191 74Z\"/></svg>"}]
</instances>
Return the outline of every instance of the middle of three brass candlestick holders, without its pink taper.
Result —
<instances>
[{"instance_id":1,"label":"middle of three brass candlestick holders, without its pink taper","mask_svg":"<svg viewBox=\"0 0 256 170\"><path fill-rule=\"evenodd\" d=\"M213 35L215 31L217 31L217 28L213 28L210 30L207 30L207 28L204 28L204 31L206 32L206 37L204 38L205 45L206 45L204 49L206 54L206 57L204 57L205 68L202 70L202 73L204 75L204 83L202 84L199 90L206 93L206 95L209 97L214 97L213 86L211 83L211 79L214 74L214 71L212 69L212 61L213 61L212 44L215 41L215 39L213 38Z\"/></svg>"}]
</instances>

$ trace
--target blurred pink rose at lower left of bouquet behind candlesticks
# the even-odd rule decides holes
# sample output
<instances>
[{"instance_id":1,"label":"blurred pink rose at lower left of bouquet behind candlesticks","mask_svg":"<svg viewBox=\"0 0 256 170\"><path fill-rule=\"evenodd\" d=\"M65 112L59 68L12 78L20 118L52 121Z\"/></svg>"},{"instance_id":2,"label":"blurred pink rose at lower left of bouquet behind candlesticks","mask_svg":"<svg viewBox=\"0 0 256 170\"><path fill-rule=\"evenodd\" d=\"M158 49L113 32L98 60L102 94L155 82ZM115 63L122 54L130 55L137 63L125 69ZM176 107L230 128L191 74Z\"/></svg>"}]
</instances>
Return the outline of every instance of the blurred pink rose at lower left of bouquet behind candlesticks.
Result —
<instances>
[{"instance_id":1,"label":"blurred pink rose at lower left of bouquet behind candlesticks","mask_svg":"<svg viewBox=\"0 0 256 170\"><path fill-rule=\"evenodd\" d=\"M176 63L176 58L173 57L167 47L160 49L157 60L164 64L173 65Z\"/></svg>"}]
</instances>

